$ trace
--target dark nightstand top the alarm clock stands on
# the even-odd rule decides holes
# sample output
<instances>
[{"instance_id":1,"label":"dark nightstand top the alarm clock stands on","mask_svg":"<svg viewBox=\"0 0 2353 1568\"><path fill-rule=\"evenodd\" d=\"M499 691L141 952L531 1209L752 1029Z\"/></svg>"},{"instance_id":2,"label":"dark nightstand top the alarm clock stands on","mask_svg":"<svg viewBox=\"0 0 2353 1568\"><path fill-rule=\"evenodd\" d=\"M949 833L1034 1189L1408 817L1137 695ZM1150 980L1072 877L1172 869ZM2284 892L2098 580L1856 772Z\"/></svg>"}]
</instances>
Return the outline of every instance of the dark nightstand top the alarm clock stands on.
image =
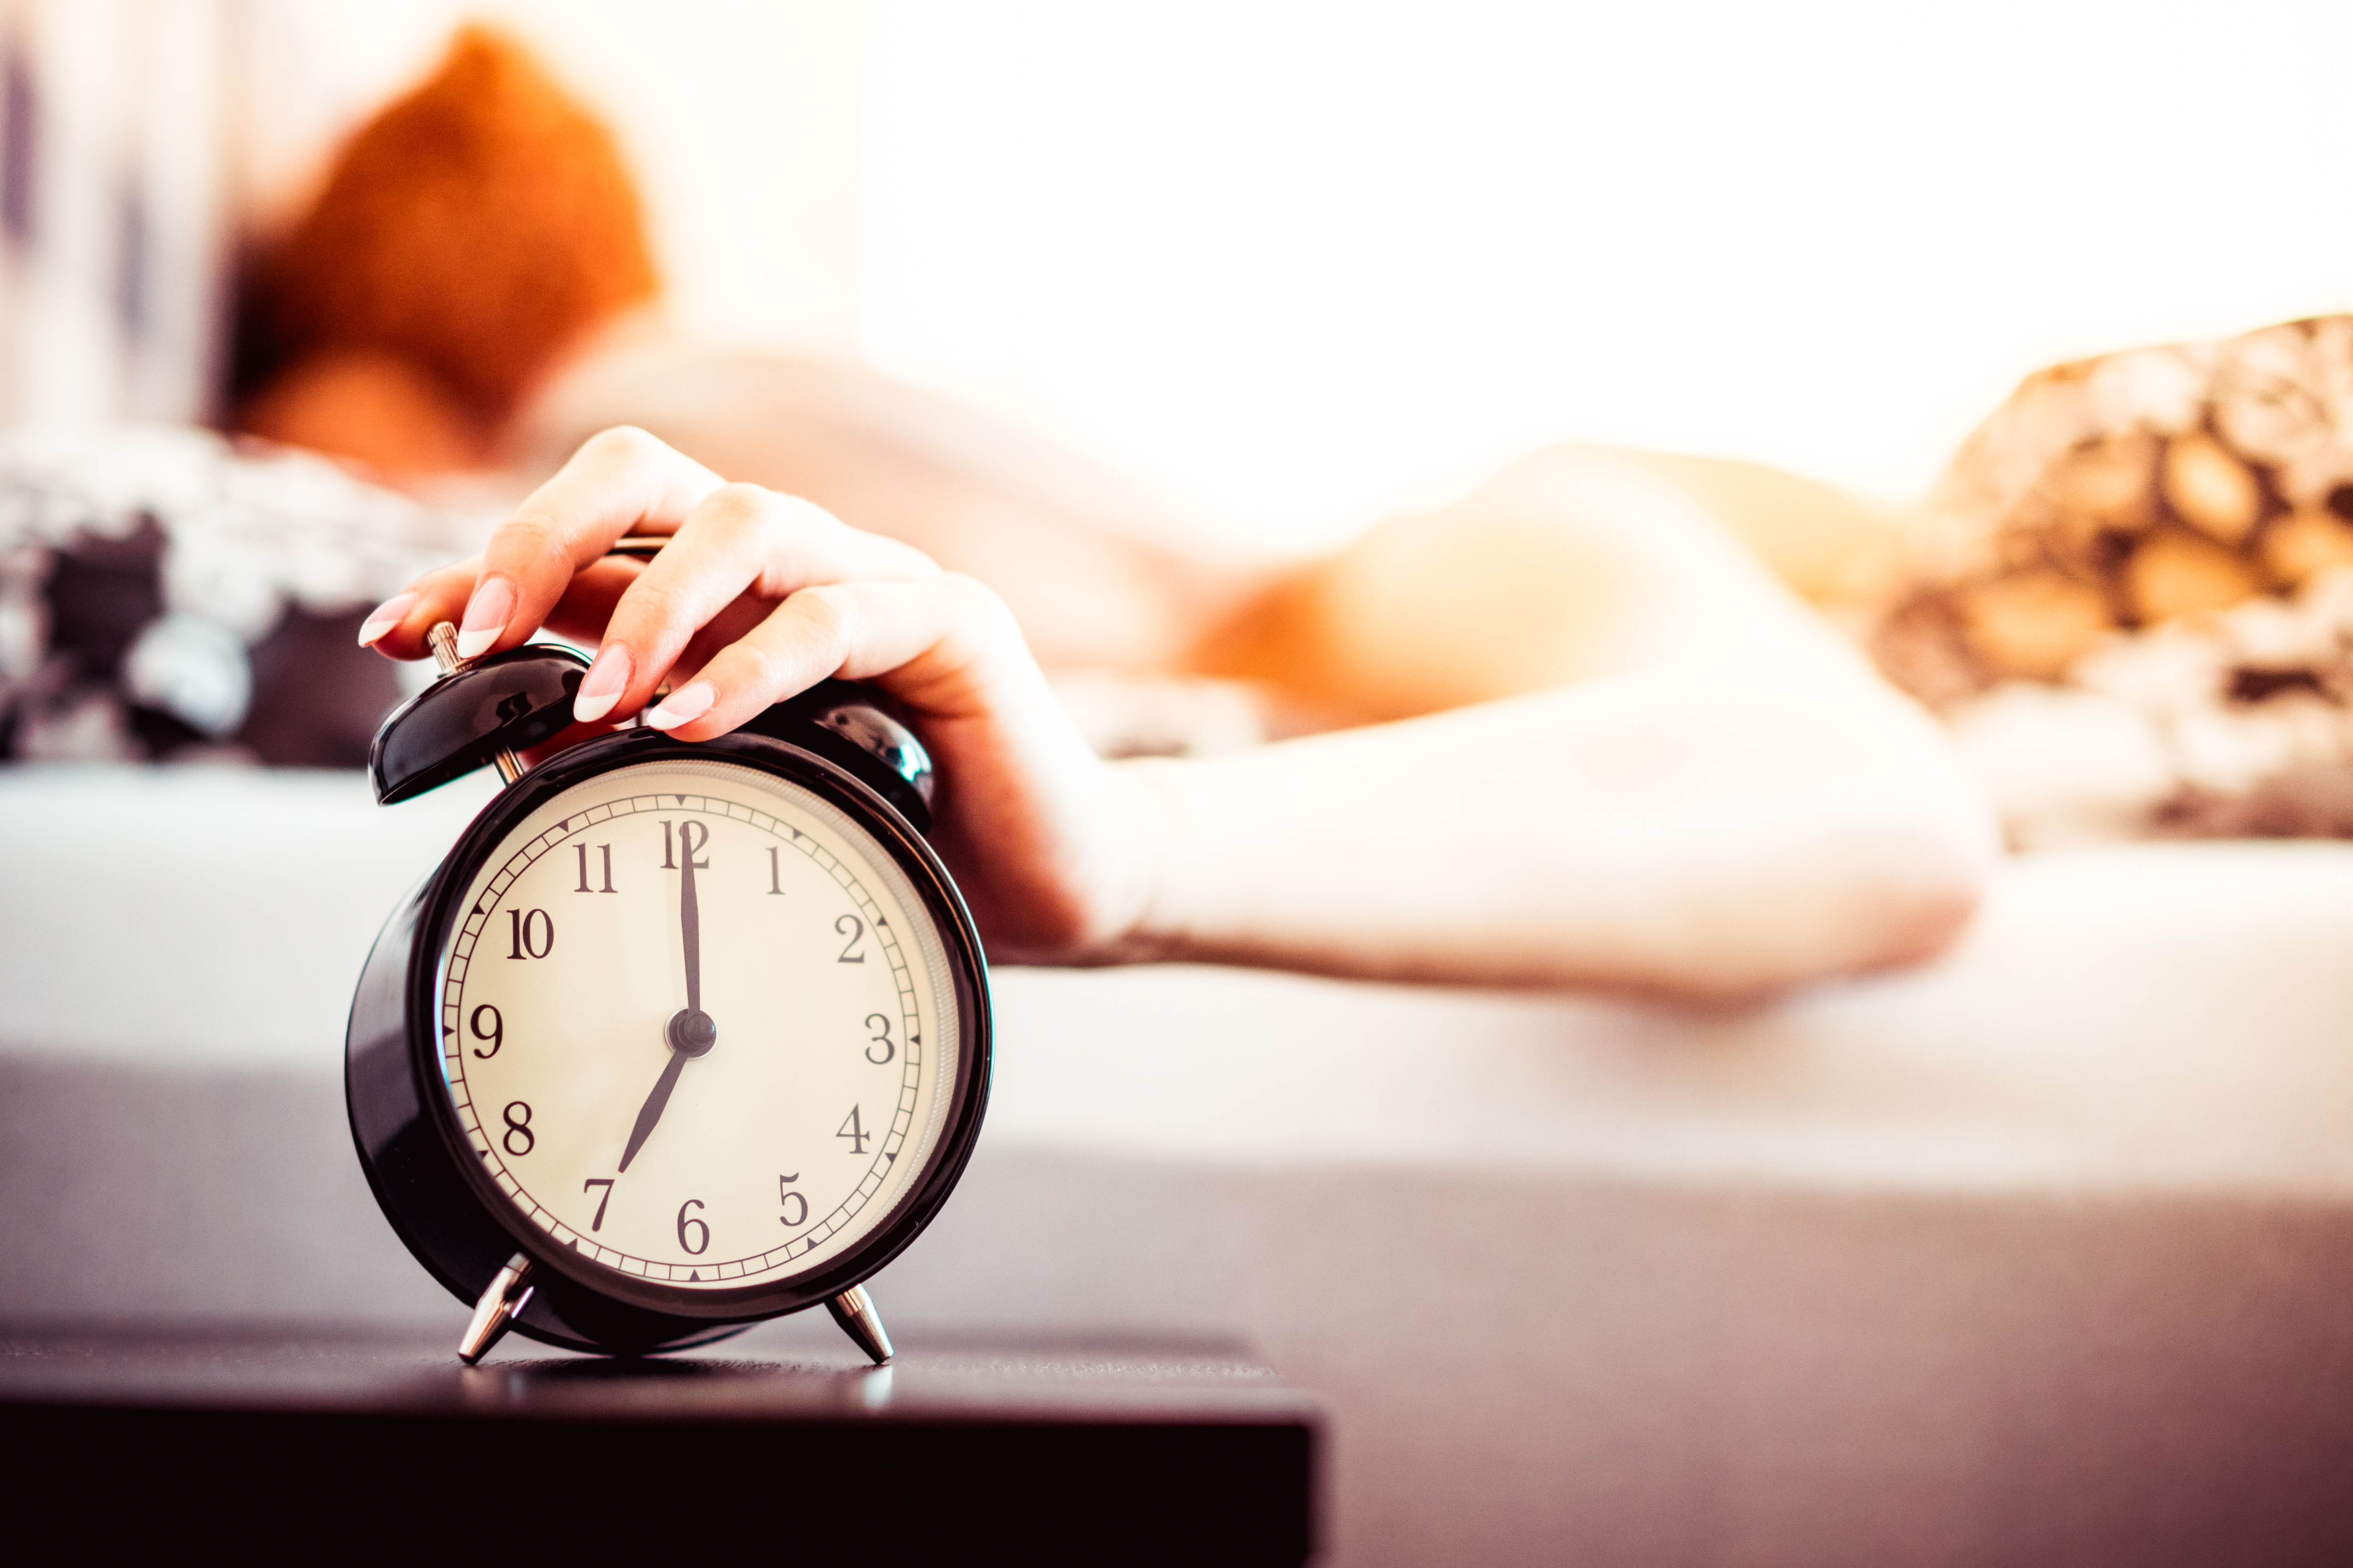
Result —
<instances>
[{"instance_id":1,"label":"dark nightstand top the alarm clock stands on","mask_svg":"<svg viewBox=\"0 0 2353 1568\"><path fill-rule=\"evenodd\" d=\"M92 1549L386 1561L1299 1563L1318 1403L1231 1342L946 1335L889 1366L755 1331L478 1368L447 1333L0 1328L21 1521ZM421 1561L428 1561L421 1556Z\"/></svg>"}]
</instances>

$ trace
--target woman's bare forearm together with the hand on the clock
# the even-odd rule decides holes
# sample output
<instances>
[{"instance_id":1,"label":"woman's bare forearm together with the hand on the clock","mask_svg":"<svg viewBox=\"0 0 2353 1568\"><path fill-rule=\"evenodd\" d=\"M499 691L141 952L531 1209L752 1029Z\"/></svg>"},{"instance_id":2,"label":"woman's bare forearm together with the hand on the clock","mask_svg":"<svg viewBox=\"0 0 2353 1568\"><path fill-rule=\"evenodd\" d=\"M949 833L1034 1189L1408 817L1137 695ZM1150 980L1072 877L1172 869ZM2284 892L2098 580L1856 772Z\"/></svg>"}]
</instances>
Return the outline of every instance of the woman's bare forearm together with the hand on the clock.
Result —
<instances>
[{"instance_id":1,"label":"woman's bare forearm together with the hand on the clock","mask_svg":"<svg viewBox=\"0 0 2353 1568\"><path fill-rule=\"evenodd\" d=\"M642 571L605 559L631 531L675 541ZM1704 583L1720 646L1231 759L1106 764L993 592L621 430L365 637L416 658L442 618L466 654L584 635L581 710L621 719L668 682L647 722L685 741L826 675L885 686L939 757L936 842L1012 961L1737 994L1946 940L1991 835L1925 717L1774 599L1628 562L1628 592Z\"/></svg>"}]
</instances>

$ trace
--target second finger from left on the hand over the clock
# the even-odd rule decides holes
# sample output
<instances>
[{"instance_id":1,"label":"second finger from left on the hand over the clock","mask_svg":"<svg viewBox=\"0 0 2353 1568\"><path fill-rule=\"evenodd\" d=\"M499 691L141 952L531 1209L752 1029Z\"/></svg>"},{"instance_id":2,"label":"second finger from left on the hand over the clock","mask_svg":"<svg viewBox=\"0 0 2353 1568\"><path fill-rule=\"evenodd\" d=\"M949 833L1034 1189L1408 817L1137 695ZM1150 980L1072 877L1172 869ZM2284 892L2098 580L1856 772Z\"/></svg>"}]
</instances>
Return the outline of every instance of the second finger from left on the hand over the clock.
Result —
<instances>
[{"instance_id":1,"label":"second finger from left on the hand over the clock","mask_svg":"<svg viewBox=\"0 0 2353 1568\"><path fill-rule=\"evenodd\" d=\"M624 425L588 437L492 534L459 618L459 658L522 642L546 623L572 576L616 538L675 531L720 484L715 473L645 430Z\"/></svg>"}]
</instances>

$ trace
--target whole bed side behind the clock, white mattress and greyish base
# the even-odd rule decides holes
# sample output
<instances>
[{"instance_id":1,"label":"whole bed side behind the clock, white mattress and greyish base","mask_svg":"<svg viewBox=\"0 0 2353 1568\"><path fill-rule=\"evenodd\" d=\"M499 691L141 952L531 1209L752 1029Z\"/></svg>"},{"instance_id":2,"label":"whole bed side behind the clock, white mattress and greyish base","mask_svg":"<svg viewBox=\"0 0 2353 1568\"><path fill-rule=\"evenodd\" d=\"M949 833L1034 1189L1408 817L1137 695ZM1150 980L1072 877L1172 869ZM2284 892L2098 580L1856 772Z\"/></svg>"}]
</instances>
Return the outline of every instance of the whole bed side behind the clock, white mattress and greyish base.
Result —
<instances>
[{"instance_id":1,"label":"whole bed side behind the clock, white mattress and greyish base","mask_svg":"<svg viewBox=\"0 0 2353 1568\"><path fill-rule=\"evenodd\" d=\"M339 1072L489 788L0 771L0 1312L454 1342ZM1332 1401L1334 1563L2341 1561L2348 950L2353 846L2141 844L1746 1009L1002 969L981 1150L873 1293L1245 1335Z\"/></svg>"}]
</instances>

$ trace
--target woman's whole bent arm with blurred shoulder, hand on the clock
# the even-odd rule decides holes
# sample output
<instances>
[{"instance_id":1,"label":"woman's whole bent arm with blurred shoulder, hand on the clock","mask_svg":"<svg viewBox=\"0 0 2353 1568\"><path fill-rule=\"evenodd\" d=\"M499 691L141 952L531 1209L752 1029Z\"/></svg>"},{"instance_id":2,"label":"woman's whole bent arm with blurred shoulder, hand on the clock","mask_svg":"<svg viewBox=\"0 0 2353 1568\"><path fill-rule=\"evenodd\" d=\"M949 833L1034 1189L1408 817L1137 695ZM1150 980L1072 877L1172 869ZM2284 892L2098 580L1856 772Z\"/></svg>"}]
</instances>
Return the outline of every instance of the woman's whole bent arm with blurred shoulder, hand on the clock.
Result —
<instances>
[{"instance_id":1,"label":"woman's whole bent arm with blurred shoulder, hand on the clock","mask_svg":"<svg viewBox=\"0 0 2353 1568\"><path fill-rule=\"evenodd\" d=\"M922 395L868 409L878 456L802 489L864 487L880 531L614 428L362 642L548 625L598 646L584 719L685 741L873 682L939 762L939 849L1007 961L1737 997L1927 957L1979 898L1995 835L1941 731L1657 461L1551 451L1266 574L915 461ZM624 534L675 543L605 559ZM1101 759L1033 646L1252 675L1339 729Z\"/></svg>"}]
</instances>

